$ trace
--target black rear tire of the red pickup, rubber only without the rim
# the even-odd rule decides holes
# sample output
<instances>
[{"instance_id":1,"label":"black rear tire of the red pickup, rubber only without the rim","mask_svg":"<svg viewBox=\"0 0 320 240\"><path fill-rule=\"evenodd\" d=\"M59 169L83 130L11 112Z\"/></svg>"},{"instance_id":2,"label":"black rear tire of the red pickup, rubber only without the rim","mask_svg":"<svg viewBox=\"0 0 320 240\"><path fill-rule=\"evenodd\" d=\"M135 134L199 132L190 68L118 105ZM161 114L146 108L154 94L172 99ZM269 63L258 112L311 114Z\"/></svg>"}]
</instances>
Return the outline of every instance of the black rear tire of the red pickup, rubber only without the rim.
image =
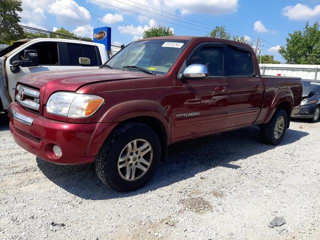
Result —
<instances>
[{"instance_id":1,"label":"black rear tire of the red pickup, rubber only without the rim","mask_svg":"<svg viewBox=\"0 0 320 240\"><path fill-rule=\"evenodd\" d=\"M281 116L284 118L284 127L280 137L276 138L274 136L275 123ZM270 145L279 144L285 135L287 122L288 122L288 117L287 117L286 111L283 109L276 110L273 116L271 117L271 119L269 120L269 122L261 125L260 127L260 136L262 138L262 141Z\"/></svg>"}]
</instances>

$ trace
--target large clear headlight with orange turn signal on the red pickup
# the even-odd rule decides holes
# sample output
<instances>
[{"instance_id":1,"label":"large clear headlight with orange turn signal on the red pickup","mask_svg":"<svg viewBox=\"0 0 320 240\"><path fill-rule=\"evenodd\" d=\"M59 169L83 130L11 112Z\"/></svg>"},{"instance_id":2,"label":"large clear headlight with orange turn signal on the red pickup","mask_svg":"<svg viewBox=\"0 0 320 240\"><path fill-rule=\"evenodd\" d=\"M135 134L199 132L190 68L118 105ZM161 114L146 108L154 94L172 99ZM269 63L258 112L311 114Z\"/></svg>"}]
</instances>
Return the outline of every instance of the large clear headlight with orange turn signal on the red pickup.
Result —
<instances>
[{"instance_id":1,"label":"large clear headlight with orange turn signal on the red pickup","mask_svg":"<svg viewBox=\"0 0 320 240\"><path fill-rule=\"evenodd\" d=\"M104 102L100 96L77 94L74 92L53 93L46 103L46 111L68 117L91 116Z\"/></svg>"}]
</instances>

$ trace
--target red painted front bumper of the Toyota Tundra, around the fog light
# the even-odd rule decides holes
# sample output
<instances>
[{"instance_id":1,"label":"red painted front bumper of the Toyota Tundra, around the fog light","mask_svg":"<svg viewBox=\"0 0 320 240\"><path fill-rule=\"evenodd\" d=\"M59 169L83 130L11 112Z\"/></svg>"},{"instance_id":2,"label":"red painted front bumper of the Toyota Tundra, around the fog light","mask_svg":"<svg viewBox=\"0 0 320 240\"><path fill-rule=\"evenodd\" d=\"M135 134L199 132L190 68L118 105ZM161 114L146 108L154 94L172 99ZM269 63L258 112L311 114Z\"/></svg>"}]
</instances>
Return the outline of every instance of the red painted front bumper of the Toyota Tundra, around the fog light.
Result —
<instances>
[{"instance_id":1,"label":"red painted front bumper of the Toyota Tundra, around the fog light","mask_svg":"<svg viewBox=\"0 0 320 240\"><path fill-rule=\"evenodd\" d=\"M12 112L31 118L31 125L13 117ZM29 112L15 102L9 106L9 118L10 131L19 146L44 160L58 164L93 162L114 125L55 121ZM61 157L53 153L53 145L62 149Z\"/></svg>"}]
</instances>

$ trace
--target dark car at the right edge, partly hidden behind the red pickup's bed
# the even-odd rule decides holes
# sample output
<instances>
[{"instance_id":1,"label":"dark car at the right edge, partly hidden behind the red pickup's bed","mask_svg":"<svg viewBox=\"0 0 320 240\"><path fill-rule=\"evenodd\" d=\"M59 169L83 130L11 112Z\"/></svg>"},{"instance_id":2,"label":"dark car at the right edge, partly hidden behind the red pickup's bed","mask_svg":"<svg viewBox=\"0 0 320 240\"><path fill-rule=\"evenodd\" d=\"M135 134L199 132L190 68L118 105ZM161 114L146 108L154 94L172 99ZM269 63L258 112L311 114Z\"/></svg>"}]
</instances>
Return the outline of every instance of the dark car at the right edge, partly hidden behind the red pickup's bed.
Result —
<instances>
[{"instance_id":1,"label":"dark car at the right edge, partly hidden behind the red pickup's bed","mask_svg":"<svg viewBox=\"0 0 320 240\"><path fill-rule=\"evenodd\" d=\"M309 118L313 122L320 117L320 81L303 80L303 93L300 110L291 117Z\"/></svg>"}]
</instances>

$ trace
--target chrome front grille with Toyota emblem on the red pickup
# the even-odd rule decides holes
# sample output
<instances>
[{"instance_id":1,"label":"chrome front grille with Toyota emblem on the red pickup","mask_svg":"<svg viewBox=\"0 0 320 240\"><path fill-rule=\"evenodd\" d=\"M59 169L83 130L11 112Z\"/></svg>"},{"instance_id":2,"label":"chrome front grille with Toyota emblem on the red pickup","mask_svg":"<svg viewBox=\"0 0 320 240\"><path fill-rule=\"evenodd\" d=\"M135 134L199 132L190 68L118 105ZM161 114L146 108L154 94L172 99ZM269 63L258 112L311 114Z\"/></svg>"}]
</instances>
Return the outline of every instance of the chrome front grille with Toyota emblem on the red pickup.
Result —
<instances>
[{"instance_id":1,"label":"chrome front grille with Toyota emblem on the red pickup","mask_svg":"<svg viewBox=\"0 0 320 240\"><path fill-rule=\"evenodd\" d=\"M40 112L39 96L40 91L36 88L23 86L18 84L16 86L17 94L15 100L27 110L38 113Z\"/></svg>"}]
</instances>

